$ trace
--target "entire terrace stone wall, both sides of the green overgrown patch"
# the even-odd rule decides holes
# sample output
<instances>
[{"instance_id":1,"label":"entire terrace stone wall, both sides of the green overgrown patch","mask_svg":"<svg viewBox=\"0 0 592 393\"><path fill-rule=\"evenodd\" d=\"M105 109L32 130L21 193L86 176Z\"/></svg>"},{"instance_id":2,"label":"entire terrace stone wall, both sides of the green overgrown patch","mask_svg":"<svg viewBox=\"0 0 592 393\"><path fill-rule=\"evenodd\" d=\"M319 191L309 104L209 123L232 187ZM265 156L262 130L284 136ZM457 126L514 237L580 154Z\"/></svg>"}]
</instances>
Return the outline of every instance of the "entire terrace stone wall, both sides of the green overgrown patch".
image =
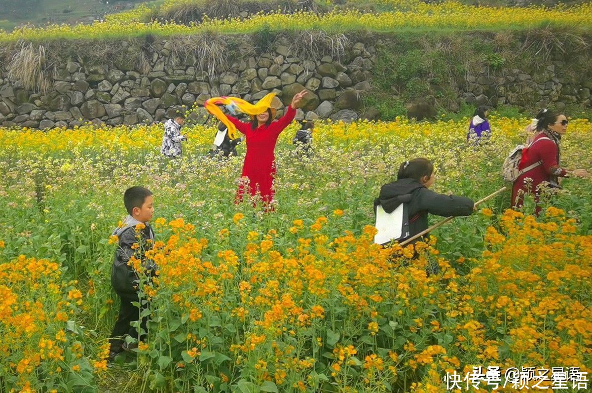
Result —
<instances>
[{"instance_id":1,"label":"entire terrace stone wall, both sides of the green overgrown patch","mask_svg":"<svg viewBox=\"0 0 592 393\"><path fill-rule=\"evenodd\" d=\"M195 110L189 111L189 118L204 123L210 116L200 106L207 98L233 95L252 102L275 92L287 105L304 88L309 93L298 110L298 120L377 119L379 112L364 108L362 97L374 90L372 70L377 65L380 42L353 41L340 56L302 59L292 55L288 40L277 40L260 55L230 60L211 76L197 69L194 60L173 65L171 43L162 40L152 43L146 72L112 63L65 59L53 76L52 87L44 93L25 90L21 82L10 80L0 68L0 124L40 129L73 127L88 121L131 125L162 122L192 107ZM130 58L137 56L131 46L128 49ZM462 103L510 104L529 111L547 106L560 111L572 105L591 108L592 69L583 66L582 72L573 72L567 61L551 59L543 66L510 66L495 72L485 66L468 69L462 78L448 82L456 99L442 105L434 97L419 101L409 98L407 114L417 119L433 116L436 103L452 111ZM395 95L395 90L401 94L400 88L391 87L382 96L406 101L404 95Z\"/></svg>"}]
</instances>

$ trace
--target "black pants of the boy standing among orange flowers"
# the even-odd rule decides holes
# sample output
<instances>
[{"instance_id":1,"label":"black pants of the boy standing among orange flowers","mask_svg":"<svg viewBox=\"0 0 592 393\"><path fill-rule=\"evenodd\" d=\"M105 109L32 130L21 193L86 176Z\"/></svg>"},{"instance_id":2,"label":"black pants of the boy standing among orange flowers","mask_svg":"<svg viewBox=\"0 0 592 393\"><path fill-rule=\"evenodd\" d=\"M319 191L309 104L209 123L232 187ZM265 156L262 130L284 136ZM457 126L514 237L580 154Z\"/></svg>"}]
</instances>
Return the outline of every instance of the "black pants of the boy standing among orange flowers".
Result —
<instances>
[{"instance_id":1,"label":"black pants of the boy standing among orange flowers","mask_svg":"<svg viewBox=\"0 0 592 393\"><path fill-rule=\"evenodd\" d=\"M119 294L121 299L121 306L119 308L119 315L117 317L117 322L115 322L115 326L113 327L113 331L111 333L111 352L120 353L122 351L121 346L124 343L124 336L128 334L130 337L133 338L140 338L140 340L144 340L146 337L145 335L138 337L138 330L136 327L130 326L131 322L138 321L140 319L140 312L144 309L148 308L148 302L146 299L143 299L142 302L144 303L141 308L137 308L134 306L132 302L140 302L138 295L121 295ZM140 327L142 330L147 332L146 322L148 321L148 317L143 317L140 323Z\"/></svg>"}]
</instances>

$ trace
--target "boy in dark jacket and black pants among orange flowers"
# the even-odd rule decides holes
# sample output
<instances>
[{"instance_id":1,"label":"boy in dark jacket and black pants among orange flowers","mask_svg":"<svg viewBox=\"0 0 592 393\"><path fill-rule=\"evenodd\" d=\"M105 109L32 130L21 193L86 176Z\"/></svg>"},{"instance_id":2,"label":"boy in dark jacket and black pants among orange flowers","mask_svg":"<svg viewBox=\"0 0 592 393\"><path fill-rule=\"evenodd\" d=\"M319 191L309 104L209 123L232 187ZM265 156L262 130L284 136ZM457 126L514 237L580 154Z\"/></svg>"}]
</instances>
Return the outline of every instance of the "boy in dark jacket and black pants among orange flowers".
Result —
<instances>
[{"instance_id":1,"label":"boy in dark jacket and black pants among orange flowers","mask_svg":"<svg viewBox=\"0 0 592 393\"><path fill-rule=\"evenodd\" d=\"M133 302L140 302L139 299L139 279L136 269L128 266L131 258L140 261L140 269L143 269L147 276L152 277L156 274L157 266L145 257L146 251L154 246L155 235L149 225L150 219L154 213L154 199L152 192L144 187L131 187L126 190L123 196L124 205L128 216L113 231L118 239L118 249L115 251L113 267L111 271L111 285L115 293L121 299L121 306L117 322L111 333L111 353L110 359L123 350L133 349L137 344L127 345L124 336L132 338L138 337L136 327L131 327L131 322L140 319L141 309L134 306ZM142 309L147 308L147 302L143 300ZM147 318L141 320L140 327L146 329Z\"/></svg>"}]
</instances>

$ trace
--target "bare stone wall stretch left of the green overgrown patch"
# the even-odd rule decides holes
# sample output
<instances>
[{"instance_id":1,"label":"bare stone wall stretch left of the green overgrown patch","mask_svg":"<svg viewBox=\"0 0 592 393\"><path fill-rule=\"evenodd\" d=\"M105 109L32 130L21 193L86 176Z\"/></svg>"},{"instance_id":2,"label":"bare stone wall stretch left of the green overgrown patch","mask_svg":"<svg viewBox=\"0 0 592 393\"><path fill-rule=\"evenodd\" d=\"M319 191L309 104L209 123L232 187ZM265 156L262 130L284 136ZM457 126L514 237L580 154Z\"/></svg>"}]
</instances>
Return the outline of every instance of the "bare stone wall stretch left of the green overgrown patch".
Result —
<instances>
[{"instance_id":1,"label":"bare stone wall stretch left of the green overgrown patch","mask_svg":"<svg viewBox=\"0 0 592 393\"><path fill-rule=\"evenodd\" d=\"M0 124L47 129L88 121L108 125L153 123L194 106L197 109L190 118L202 123L208 114L200 106L207 98L231 95L256 101L275 92L287 105L304 88L309 93L298 110L299 120L355 119L361 94L370 86L375 56L374 48L356 43L346 56L300 59L291 56L288 46L278 44L259 56L219 68L210 77L192 63L173 66L170 43L161 41L153 47L150 71L144 74L65 60L53 76L52 88L45 93L27 91L0 71Z\"/></svg>"}]
</instances>

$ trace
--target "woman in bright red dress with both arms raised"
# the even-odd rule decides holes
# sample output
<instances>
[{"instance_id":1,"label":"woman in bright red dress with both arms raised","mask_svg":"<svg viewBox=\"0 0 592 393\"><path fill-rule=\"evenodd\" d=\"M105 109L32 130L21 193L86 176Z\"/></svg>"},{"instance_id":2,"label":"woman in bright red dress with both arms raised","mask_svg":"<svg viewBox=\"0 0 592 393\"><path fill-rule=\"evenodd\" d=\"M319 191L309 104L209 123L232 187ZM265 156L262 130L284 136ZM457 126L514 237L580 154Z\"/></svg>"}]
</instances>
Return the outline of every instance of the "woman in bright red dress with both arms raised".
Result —
<instances>
[{"instance_id":1,"label":"woman in bright red dress with both arms raised","mask_svg":"<svg viewBox=\"0 0 592 393\"><path fill-rule=\"evenodd\" d=\"M236 129L244 134L247 145L236 202L242 202L244 192L248 188L252 196L260 193L265 210L274 210L271 204L274 200L273 183L276 175L275 144L279 134L294 120L296 108L306 93L307 90L303 90L294 95L284 116L275 122L273 120L276 108L268 108L267 111L254 116L251 123L243 123L235 117L227 116ZM248 184L245 178L248 179Z\"/></svg>"}]
</instances>

